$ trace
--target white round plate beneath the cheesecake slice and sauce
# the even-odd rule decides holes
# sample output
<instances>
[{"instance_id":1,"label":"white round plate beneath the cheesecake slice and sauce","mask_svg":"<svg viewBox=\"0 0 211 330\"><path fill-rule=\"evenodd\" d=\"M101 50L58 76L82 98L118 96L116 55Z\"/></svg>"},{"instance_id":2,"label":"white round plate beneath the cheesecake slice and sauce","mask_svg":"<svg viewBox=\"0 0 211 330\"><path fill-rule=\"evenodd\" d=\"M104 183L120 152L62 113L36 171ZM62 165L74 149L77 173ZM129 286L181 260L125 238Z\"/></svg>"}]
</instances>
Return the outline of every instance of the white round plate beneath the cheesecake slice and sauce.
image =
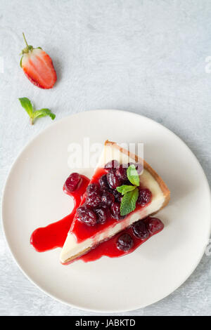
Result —
<instances>
[{"instance_id":1,"label":"white round plate beneath the cheesecake slice and sauce","mask_svg":"<svg viewBox=\"0 0 211 330\"><path fill-rule=\"evenodd\" d=\"M134 253L64 266L60 249L38 253L30 235L70 213L72 201L63 193L70 174L68 145L84 137L91 143L143 142L144 158L172 198L159 213L165 229ZM34 138L13 164L2 206L6 239L25 275L59 301L96 312L143 308L169 295L196 268L210 236L210 190L191 150L155 121L118 110L75 114Z\"/></svg>"}]
</instances>

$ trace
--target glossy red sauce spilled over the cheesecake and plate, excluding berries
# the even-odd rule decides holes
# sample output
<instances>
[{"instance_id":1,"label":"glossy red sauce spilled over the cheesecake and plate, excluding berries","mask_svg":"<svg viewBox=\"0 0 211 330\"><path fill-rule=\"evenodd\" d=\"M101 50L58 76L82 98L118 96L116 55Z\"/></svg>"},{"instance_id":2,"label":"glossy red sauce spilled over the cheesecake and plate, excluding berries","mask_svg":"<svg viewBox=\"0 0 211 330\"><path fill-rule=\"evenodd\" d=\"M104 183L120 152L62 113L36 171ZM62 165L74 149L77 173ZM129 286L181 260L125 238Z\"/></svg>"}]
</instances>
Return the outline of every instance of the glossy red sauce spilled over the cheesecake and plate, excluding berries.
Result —
<instances>
[{"instance_id":1,"label":"glossy red sauce spilled over the cheesecake and plate, excluding berries","mask_svg":"<svg viewBox=\"0 0 211 330\"><path fill-rule=\"evenodd\" d=\"M96 173L96 176L92 178L91 183L96 182L98 178L103 175L104 172L104 170L98 171ZM46 227L39 227L34 230L34 232L32 232L30 243L32 244L32 246L34 246L34 249L36 251L44 252L51 249L55 249L57 247L63 247L65 239L70 230L70 226L75 217L76 209L81 203L81 201L84 201L84 192L87 189L87 185L89 185L89 179L86 176L82 176L82 182L80 183L79 188L75 192L70 193L63 188L64 192L66 194L69 194L74 199L74 208L72 212L68 216L65 216L65 218L63 218L62 220L56 221L56 223L51 223ZM103 229L103 226L108 227L111 222L115 223L116 220L108 219L105 224L101 225L101 229ZM96 227L97 226L98 225L96 225ZM93 235L98 230L97 228L89 227L83 223L80 223L79 221L75 222L75 225L72 229L75 233L77 233L77 235L79 235L82 230L85 230L85 232L87 232L87 235L89 235L87 237L90 237L91 234ZM118 237L120 237L120 235L122 235L122 232L119 232L111 239L108 239L108 241L98 244L98 246L96 246L94 249L77 259L82 259L84 260L84 262L87 263L89 261L97 260L102 256L108 256L110 258L124 256L125 254L132 253L132 251L137 249L137 247L139 247L147 240L141 240L136 238L132 233L132 227L127 228L126 230L124 230L124 232L127 232L129 235L132 235L134 240L134 246L129 251L121 251L117 249L117 239ZM158 232L160 232L160 230ZM157 234L158 232L155 232L155 234ZM148 238L153 235L150 235Z\"/></svg>"}]
</instances>

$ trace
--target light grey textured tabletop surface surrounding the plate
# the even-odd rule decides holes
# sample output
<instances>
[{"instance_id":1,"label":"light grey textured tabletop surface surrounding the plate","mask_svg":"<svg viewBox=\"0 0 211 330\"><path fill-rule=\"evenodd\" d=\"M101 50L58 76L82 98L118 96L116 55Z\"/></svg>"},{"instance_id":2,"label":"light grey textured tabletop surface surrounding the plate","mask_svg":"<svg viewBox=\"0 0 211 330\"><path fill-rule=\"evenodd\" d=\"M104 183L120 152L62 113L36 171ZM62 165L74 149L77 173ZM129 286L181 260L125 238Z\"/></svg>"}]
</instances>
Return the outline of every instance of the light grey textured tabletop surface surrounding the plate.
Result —
<instances>
[{"instance_id":1,"label":"light grey textured tabletop surface surrounding the plate","mask_svg":"<svg viewBox=\"0 0 211 330\"><path fill-rule=\"evenodd\" d=\"M23 96L51 108L56 120L108 108L146 115L186 142L210 181L210 17L210 0L0 0L1 188L18 153L51 125L49 118L29 125ZM23 31L53 58L58 83L50 91L30 84L19 67ZM0 315L95 315L29 282L2 230L0 253ZM122 315L211 315L210 266L204 256L177 291Z\"/></svg>"}]
</instances>

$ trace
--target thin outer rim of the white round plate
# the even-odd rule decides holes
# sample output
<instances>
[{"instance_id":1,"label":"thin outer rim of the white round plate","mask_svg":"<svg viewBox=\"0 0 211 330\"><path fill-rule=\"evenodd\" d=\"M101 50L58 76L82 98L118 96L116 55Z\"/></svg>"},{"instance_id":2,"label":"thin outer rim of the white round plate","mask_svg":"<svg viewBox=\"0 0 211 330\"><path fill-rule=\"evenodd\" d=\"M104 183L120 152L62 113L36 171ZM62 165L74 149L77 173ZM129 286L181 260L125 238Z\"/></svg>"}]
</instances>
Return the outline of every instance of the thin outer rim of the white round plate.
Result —
<instances>
[{"instance_id":1,"label":"thin outer rim of the white round plate","mask_svg":"<svg viewBox=\"0 0 211 330\"><path fill-rule=\"evenodd\" d=\"M168 131L168 133L171 133L174 135L174 138L177 138L177 140L179 140L180 143L182 143L184 145L184 147L186 147L186 149L188 150L188 152L191 152L192 156L196 159L196 162L198 164L198 169L200 169L201 173L203 174L203 179L205 181L205 184L206 184L206 187L207 187L207 192L209 194L209 204L210 204L210 208L209 208L209 216L211 218L211 190L210 190L210 185L208 183L208 180L207 180L207 176L205 175L205 171L203 170L203 167L201 166L200 164L200 161L198 160L198 158L196 157L196 155L192 152L192 150L190 149L190 147L188 147L188 145L186 145L186 143L184 142L184 140L182 140L179 136L177 136L176 133L174 133L173 131L170 130L170 128L167 128L165 127L164 125L160 124L158 121L155 121L149 117L146 117L146 116L143 116L143 114L137 114L136 112L130 112L130 111L127 111L127 110L117 110L117 109L98 109L98 110L85 110L85 111L81 111L81 112L77 112L77 113L74 113L74 114L70 114L68 116L65 116L61 119L59 119L58 121L55 121L53 122L52 124L49 124L49 126L47 126L46 128L44 128L41 132L39 132L36 136L34 136L32 139L30 139L30 141L28 143L25 144L25 146L20 150L20 152L18 152L18 155L15 157L15 160L12 162L11 164L11 167L7 173L7 176L6 176L6 180L4 182L4 187L3 187L3 190L2 190L2 198L1 198L1 224L2 224L2 228L3 228L3 232L4 232L4 239L6 239L6 244L9 248L9 251L11 253L11 256L13 257L13 260L15 260L15 263L16 265L18 265L18 268L23 272L23 274L25 275L25 277L27 277L27 279L30 280L30 282L32 284L34 284L39 290L41 290L43 293L45 293L47 296L50 296L51 298L55 299L56 301L59 301L60 303L63 303L65 305L68 305L72 308L77 308L79 310L84 310L84 311L87 311L87 312L95 312L95 313L116 313L116 312L130 312L130 311L133 311L133 310L139 310L140 308L145 308L147 306L150 306L150 305L153 305L154 303L158 303L158 301L161 301L162 299L166 298L167 296L170 296L171 293L173 293L175 290L179 289L179 287L184 284L186 282L186 280L188 279L188 277L190 277L193 272L196 270L196 268L198 267L198 264L200 263L200 260L203 258L203 255L205 253L205 249L206 249L206 246L205 246L205 249L203 249L202 253L200 254L200 256L198 257L198 260L196 261L196 264L194 264L193 266L193 269L191 270L191 272L187 275L187 277L184 279L184 281L181 282L181 284L176 285L174 287L174 289L170 290L167 294L165 294L165 296L163 296L161 299L158 298L156 299L155 301L153 301L152 303L150 304L146 304L146 305L143 305L141 304L139 307L136 307L134 306L133 308L129 308L129 309L116 309L116 310L96 310L94 308L85 308L85 307L82 307L80 305L77 305L77 304L74 304L74 303L69 303L61 298L58 298L57 296L54 296L53 294L51 294L49 291L47 291L46 289L44 289L42 286L40 286L34 279L32 279L29 275L27 275L27 272L25 272L25 270L21 267L20 263L18 262L18 260L15 258L15 254L13 253L12 249L11 249L11 246L8 242L8 236L6 235L6 228L5 228L5 225L4 225L4 200L5 200L5 192L6 192L6 187L8 185L8 180L11 176L11 172L13 171L13 168L15 167L15 164L18 162L18 160L20 159L20 157L22 156L22 154L27 150L27 148L30 147L30 145L32 145L32 143L34 143L35 140L38 140L41 135L43 135L44 133L46 133L46 131L49 131L52 129L52 127L60 124L61 122L69 119L70 117L77 117L79 114L82 114L84 112L123 112L123 113L128 113L128 114L131 114L132 116L136 116L136 117L142 117L143 119L145 120L148 120L150 122L153 122L155 124L157 124L158 126L161 126L162 129L165 129L165 131ZM210 220L210 228L209 228L209 231L207 232L207 239L210 238L210 233L211 233L211 220Z\"/></svg>"}]
</instances>

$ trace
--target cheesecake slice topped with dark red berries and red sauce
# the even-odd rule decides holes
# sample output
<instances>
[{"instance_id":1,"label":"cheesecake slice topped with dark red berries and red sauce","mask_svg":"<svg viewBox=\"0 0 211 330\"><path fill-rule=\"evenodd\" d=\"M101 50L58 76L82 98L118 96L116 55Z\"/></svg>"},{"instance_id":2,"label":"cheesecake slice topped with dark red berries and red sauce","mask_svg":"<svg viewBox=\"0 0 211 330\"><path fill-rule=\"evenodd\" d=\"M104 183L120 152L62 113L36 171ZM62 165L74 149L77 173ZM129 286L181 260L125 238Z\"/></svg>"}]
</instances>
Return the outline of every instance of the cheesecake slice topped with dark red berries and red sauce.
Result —
<instances>
[{"instance_id":1,"label":"cheesecake slice topped with dark red berries and red sauce","mask_svg":"<svg viewBox=\"0 0 211 330\"><path fill-rule=\"evenodd\" d=\"M122 216L122 194L117 187L132 185L127 178L130 164L135 164L139 173L139 197L134 211ZM137 220L157 213L169 200L167 185L146 161L107 140L68 232L60 262L79 258Z\"/></svg>"}]
</instances>

